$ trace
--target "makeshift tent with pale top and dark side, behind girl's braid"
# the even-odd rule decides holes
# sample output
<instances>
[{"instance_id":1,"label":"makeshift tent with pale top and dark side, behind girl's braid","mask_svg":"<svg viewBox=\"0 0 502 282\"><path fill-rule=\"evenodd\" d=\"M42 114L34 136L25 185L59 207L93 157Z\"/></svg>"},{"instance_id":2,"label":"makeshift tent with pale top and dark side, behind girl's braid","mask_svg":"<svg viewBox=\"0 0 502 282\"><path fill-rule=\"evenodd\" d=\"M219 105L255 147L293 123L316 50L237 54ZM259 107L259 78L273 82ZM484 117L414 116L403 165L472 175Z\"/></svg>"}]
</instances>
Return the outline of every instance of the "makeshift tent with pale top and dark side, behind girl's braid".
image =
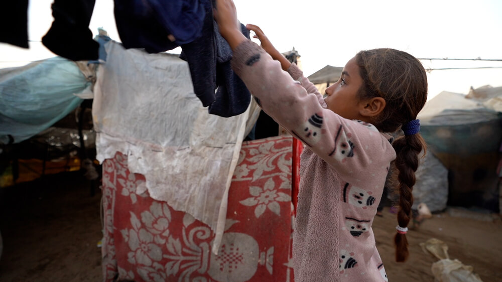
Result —
<instances>
[{"instance_id":1,"label":"makeshift tent with pale top and dark side, behind girl's braid","mask_svg":"<svg viewBox=\"0 0 502 282\"><path fill-rule=\"evenodd\" d=\"M443 91L429 100L418 115L428 150L447 169L448 187L443 189L448 189L448 205L499 210L497 167L502 107L493 101L502 97L502 87L488 88L495 94L484 100L474 94ZM429 164L425 160L421 165ZM441 181L445 175L423 177ZM420 190L420 185L415 188Z\"/></svg>"}]
</instances>

